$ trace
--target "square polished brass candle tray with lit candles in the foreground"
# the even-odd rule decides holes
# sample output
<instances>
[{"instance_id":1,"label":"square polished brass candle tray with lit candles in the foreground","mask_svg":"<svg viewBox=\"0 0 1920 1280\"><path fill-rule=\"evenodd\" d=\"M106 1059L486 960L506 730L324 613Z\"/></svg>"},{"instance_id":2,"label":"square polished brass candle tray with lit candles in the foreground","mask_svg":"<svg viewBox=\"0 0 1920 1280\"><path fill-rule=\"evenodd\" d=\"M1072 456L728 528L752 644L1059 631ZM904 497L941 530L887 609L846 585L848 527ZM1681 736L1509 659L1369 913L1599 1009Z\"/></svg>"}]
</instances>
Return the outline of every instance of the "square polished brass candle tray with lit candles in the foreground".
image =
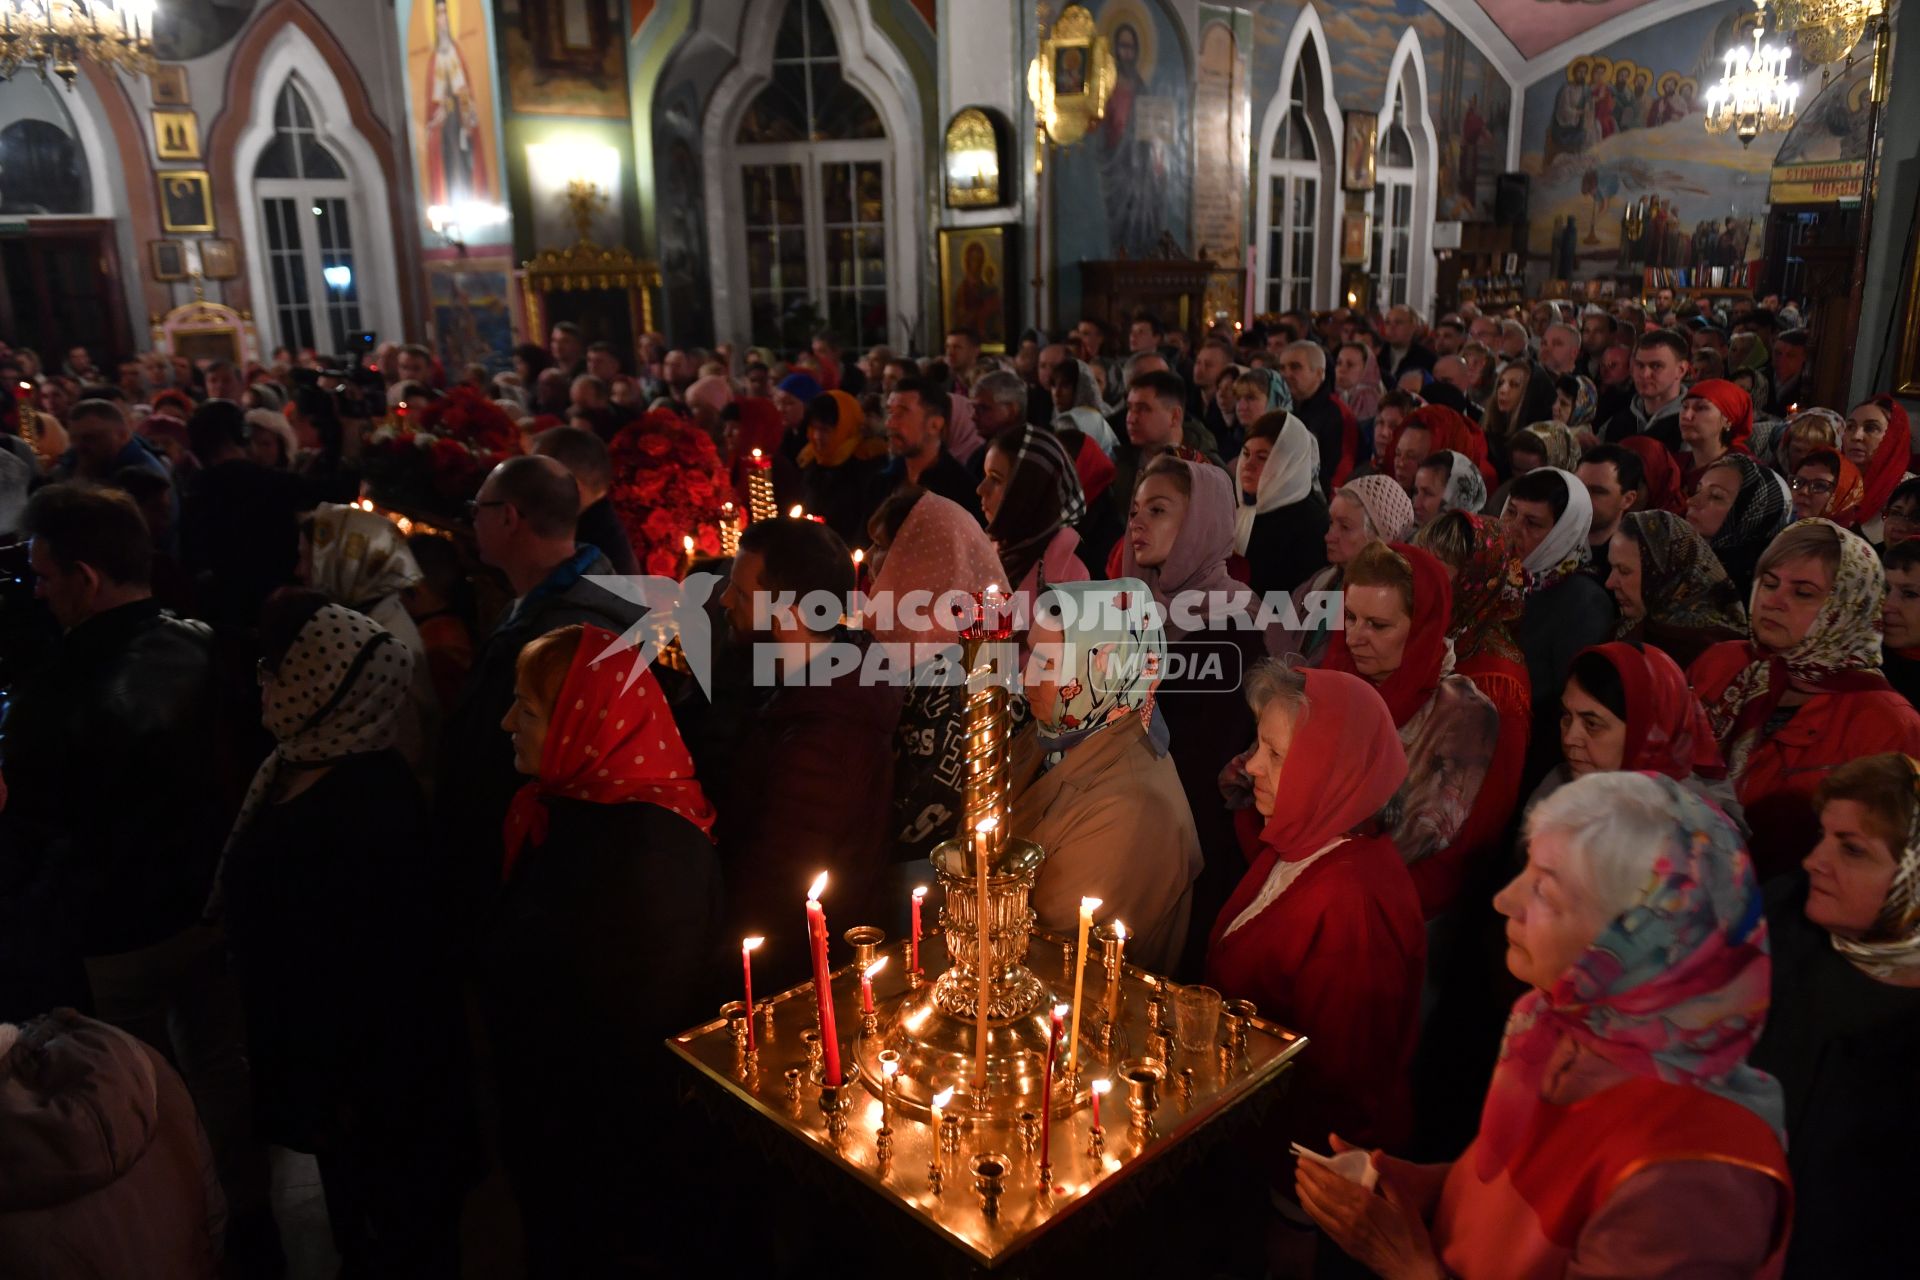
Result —
<instances>
[{"instance_id":1,"label":"square polished brass candle tray with lit candles in the foreground","mask_svg":"<svg viewBox=\"0 0 1920 1280\"><path fill-rule=\"evenodd\" d=\"M1221 1019L1221 1034L1210 1050L1185 1052L1167 1034L1148 1027L1150 1002L1173 1019L1171 984L1133 965L1121 965L1116 1027L1108 1032L1104 1009L1108 986L1096 958L1087 965L1087 1007L1081 1023L1081 1088L1071 1111L1054 1115L1050 1134L1052 1192L1041 1186L1041 1153L1033 1138L1035 1117L981 1123L962 1117L958 1150L939 1151L939 1142L924 1119L904 1105L889 1115L889 1159L879 1157L876 1130L881 1126L881 1086L862 1073L876 1054L868 1036L885 1036L895 1011L916 992L906 973L906 944L881 946L868 954L889 963L874 983L876 1019L866 1031L860 1015L860 967L833 971L833 1009L841 1032L841 1061L847 1084L839 1090L843 1109L839 1138L829 1134L822 1109L818 1071L810 1069L804 1034L818 1029L812 983L758 1000L755 1017L756 1050L749 1057L737 1044L735 1019L716 1017L666 1044L701 1073L718 1092L737 1102L753 1117L799 1140L804 1150L841 1169L858 1186L902 1209L943 1244L958 1249L973 1267L995 1270L1023 1249L1079 1219L1096 1219L1117 1194L1142 1182L1142 1173L1171 1165L1194 1138L1256 1100L1271 1102L1286 1065L1306 1048L1302 1034L1263 1017ZM1069 975L1071 940L1035 931L1029 963L1048 977ZM922 942L927 979L948 963L939 933ZM1244 1013L1244 1009L1242 1009ZM1169 1031L1171 1027L1162 1027ZM1227 1044L1235 1048L1229 1050ZM1142 1065L1148 1071L1142 1073ZM1158 1109L1142 1128L1139 1082L1129 1098L1129 1075L1150 1075L1158 1067ZM1091 1151L1091 1109L1087 1086L1110 1079L1112 1094L1102 1105L1104 1150ZM829 1094L831 1098L831 1094ZM1129 1105L1131 1103L1131 1105ZM1252 1107L1248 1107L1252 1111ZM952 1126L952 1121L948 1121ZM939 1163L939 1192L929 1165ZM995 1171L1000 1176L995 1178ZM987 1184L995 1186L987 1186ZM987 1192L987 1194L983 1194ZM989 1194L993 1213L987 1211Z\"/></svg>"}]
</instances>

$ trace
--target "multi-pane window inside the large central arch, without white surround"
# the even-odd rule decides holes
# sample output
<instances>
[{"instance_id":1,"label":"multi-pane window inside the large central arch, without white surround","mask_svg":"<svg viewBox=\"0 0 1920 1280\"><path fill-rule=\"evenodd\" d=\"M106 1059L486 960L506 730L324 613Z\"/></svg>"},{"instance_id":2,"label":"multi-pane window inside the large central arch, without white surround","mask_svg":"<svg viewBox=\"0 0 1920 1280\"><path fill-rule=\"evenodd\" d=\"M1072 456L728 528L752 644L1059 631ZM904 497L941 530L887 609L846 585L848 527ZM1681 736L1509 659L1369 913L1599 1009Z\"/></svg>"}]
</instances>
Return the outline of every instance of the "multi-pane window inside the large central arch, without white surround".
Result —
<instances>
[{"instance_id":1,"label":"multi-pane window inside the large central arch, without white surround","mask_svg":"<svg viewBox=\"0 0 1920 1280\"><path fill-rule=\"evenodd\" d=\"M822 0L787 0L733 142L753 344L804 345L822 322L845 344L887 342L893 146Z\"/></svg>"}]
</instances>

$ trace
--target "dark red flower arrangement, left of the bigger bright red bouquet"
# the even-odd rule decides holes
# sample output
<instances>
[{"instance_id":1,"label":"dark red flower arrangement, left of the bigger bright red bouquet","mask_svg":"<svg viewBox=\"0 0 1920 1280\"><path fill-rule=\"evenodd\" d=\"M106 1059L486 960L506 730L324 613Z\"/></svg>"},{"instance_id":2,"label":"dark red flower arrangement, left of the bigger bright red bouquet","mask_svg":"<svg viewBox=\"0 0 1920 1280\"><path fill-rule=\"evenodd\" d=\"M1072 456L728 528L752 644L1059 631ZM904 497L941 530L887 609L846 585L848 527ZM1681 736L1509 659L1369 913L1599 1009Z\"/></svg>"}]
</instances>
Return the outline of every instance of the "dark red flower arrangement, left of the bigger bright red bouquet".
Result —
<instances>
[{"instance_id":1,"label":"dark red flower arrangement, left of the bigger bright red bouquet","mask_svg":"<svg viewBox=\"0 0 1920 1280\"><path fill-rule=\"evenodd\" d=\"M468 386L426 403L401 405L367 439L372 493L390 507L465 516L488 472L520 453L520 430Z\"/></svg>"}]
</instances>

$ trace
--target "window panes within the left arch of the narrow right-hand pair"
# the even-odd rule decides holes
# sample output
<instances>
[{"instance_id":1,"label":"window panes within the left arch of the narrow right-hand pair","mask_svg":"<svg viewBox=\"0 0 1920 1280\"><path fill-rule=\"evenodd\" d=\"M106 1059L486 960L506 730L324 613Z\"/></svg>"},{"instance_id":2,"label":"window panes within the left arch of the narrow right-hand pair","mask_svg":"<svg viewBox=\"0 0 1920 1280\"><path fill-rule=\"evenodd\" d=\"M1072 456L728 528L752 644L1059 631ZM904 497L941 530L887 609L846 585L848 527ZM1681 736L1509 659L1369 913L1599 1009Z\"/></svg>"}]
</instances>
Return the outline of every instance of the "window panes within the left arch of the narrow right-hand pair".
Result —
<instances>
[{"instance_id":1,"label":"window panes within the left arch of the narrow right-hand pair","mask_svg":"<svg viewBox=\"0 0 1920 1280\"><path fill-rule=\"evenodd\" d=\"M1265 311L1308 311L1321 292L1321 198L1332 190L1332 138L1321 115L1321 92L1319 58L1308 42L1260 165L1260 301Z\"/></svg>"}]
</instances>

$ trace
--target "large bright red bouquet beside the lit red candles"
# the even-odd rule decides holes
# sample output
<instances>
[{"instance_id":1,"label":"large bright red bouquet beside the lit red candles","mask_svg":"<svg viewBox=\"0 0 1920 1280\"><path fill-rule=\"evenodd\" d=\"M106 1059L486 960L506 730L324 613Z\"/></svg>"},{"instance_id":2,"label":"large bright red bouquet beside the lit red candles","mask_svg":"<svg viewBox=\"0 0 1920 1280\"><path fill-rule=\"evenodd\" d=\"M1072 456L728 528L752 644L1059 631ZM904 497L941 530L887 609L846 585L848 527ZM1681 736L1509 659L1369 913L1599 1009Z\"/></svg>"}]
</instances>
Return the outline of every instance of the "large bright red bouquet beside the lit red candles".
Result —
<instances>
[{"instance_id":1,"label":"large bright red bouquet beside the lit red candles","mask_svg":"<svg viewBox=\"0 0 1920 1280\"><path fill-rule=\"evenodd\" d=\"M720 555L720 509L733 501L712 438L670 409L620 428L612 453L612 501L634 558L647 574L680 578L684 537L695 555Z\"/></svg>"}]
</instances>

